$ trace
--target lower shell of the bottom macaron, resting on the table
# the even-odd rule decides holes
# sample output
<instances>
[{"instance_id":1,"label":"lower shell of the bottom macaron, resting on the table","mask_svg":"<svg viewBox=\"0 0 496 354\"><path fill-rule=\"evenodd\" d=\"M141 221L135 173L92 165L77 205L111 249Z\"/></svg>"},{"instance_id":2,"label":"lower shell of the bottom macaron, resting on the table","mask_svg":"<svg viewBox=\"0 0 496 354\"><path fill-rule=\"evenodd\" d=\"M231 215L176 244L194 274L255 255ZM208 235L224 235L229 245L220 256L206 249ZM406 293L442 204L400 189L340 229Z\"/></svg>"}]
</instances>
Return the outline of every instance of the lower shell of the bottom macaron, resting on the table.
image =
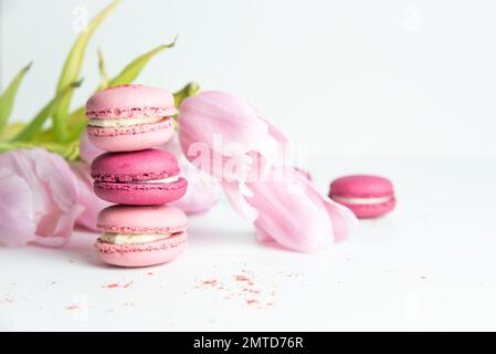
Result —
<instances>
[{"instance_id":1,"label":"lower shell of the bottom macaron, resting on the table","mask_svg":"<svg viewBox=\"0 0 496 354\"><path fill-rule=\"evenodd\" d=\"M96 241L101 259L118 267L147 267L167 263L181 254L187 246L187 233L140 244L113 244Z\"/></svg>"}]
</instances>

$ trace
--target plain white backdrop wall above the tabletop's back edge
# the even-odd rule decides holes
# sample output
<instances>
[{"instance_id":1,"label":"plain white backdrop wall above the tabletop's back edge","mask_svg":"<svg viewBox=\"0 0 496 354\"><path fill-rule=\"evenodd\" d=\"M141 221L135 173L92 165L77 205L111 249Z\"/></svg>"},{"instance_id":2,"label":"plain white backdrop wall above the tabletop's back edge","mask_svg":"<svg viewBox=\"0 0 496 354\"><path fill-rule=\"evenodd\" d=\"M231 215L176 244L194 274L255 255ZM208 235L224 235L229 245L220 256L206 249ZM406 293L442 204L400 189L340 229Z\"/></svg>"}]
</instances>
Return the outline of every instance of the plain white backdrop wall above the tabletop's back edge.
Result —
<instances>
[{"instance_id":1,"label":"plain white backdrop wall above the tabletop's back edge","mask_svg":"<svg viewBox=\"0 0 496 354\"><path fill-rule=\"evenodd\" d=\"M34 61L14 111L27 118L52 97L80 10L107 2L1 3L2 87ZM496 155L495 19L494 0L128 0L93 38L76 102L97 84L97 48L115 74L179 34L139 82L239 94L310 150Z\"/></svg>"}]
</instances>

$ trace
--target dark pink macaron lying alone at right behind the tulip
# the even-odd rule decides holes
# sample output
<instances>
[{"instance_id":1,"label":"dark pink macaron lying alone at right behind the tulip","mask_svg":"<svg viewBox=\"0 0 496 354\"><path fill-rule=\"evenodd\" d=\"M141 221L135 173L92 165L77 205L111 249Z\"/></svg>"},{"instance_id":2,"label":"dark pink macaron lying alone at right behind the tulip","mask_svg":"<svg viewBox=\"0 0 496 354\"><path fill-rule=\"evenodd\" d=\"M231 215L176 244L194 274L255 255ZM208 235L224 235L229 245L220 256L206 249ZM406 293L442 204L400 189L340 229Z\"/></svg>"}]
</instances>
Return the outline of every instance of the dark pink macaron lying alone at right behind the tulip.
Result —
<instances>
[{"instance_id":1,"label":"dark pink macaron lying alone at right behind the tulip","mask_svg":"<svg viewBox=\"0 0 496 354\"><path fill-rule=\"evenodd\" d=\"M377 218L394 209L392 183L383 177L357 175L335 179L329 197L348 207L358 218Z\"/></svg>"}]
</instances>

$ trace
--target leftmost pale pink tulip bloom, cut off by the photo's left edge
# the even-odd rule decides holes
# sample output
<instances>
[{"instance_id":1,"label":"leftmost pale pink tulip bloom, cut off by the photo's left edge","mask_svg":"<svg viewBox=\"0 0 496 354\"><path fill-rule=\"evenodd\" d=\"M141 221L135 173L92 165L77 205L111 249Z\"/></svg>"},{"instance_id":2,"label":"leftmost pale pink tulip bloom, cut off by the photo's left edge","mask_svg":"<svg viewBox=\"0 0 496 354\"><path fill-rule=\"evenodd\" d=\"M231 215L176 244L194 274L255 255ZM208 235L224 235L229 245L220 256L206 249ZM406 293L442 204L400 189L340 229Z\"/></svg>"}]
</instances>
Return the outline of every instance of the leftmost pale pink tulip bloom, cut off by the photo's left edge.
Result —
<instances>
[{"instance_id":1,"label":"leftmost pale pink tulip bloom, cut off by the photo's left edge","mask_svg":"<svg viewBox=\"0 0 496 354\"><path fill-rule=\"evenodd\" d=\"M0 155L0 243L63 246L83 212L67 163L44 149Z\"/></svg>"}]
</instances>

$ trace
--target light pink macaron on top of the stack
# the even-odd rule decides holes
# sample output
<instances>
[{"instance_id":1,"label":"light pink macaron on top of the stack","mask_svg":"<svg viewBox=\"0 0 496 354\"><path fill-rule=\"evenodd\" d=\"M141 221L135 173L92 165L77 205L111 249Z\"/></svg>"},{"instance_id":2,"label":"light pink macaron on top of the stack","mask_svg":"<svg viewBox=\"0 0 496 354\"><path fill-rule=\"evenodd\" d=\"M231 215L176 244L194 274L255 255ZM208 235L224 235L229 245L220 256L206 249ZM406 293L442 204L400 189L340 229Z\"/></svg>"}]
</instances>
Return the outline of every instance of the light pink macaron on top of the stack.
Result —
<instances>
[{"instance_id":1,"label":"light pink macaron on top of the stack","mask_svg":"<svg viewBox=\"0 0 496 354\"><path fill-rule=\"evenodd\" d=\"M107 152L133 152L161 145L175 134L173 95L162 88L118 85L86 103L89 140Z\"/></svg>"}]
</instances>

